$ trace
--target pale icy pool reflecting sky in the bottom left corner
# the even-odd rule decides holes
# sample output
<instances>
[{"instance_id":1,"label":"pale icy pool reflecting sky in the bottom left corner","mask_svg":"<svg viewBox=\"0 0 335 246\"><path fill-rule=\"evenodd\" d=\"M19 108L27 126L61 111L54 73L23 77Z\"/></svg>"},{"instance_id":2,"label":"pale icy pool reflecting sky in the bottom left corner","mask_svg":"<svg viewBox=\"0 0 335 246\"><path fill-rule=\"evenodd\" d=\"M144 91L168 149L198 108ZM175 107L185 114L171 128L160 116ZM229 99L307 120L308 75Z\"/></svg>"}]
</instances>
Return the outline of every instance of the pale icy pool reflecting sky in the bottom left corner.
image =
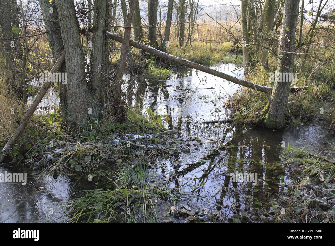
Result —
<instances>
[{"instance_id":1,"label":"pale icy pool reflecting sky in the bottom left corner","mask_svg":"<svg viewBox=\"0 0 335 246\"><path fill-rule=\"evenodd\" d=\"M0 172L24 172L23 169L0 168ZM27 171L27 170L25 170ZM58 206L72 193L72 184L65 174L47 175L35 181L37 174L28 170L27 184L0 183L0 222L60 222ZM35 182L34 182L35 181ZM50 209L54 212L50 214Z\"/></svg>"}]
</instances>

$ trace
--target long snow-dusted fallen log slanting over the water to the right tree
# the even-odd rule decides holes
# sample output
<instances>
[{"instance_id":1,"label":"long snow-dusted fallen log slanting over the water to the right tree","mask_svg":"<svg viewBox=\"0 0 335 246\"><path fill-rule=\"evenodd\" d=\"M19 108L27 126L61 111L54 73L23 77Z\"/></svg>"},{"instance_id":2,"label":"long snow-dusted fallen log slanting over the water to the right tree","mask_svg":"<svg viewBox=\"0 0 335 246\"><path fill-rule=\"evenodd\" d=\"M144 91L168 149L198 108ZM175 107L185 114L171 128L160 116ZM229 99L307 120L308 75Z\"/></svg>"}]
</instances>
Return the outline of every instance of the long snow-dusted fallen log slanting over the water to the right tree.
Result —
<instances>
[{"instance_id":1,"label":"long snow-dusted fallen log slanting over the water to the right tree","mask_svg":"<svg viewBox=\"0 0 335 246\"><path fill-rule=\"evenodd\" d=\"M120 43L123 42L123 37L122 36L113 34L113 33L108 32L108 31L106 31L106 35L108 36L108 38L110 38L112 40L115 40L115 41L120 42ZM225 79L225 80L228 80L228 81L233 82L235 84L242 85L242 86L245 86L245 87L249 87L249 88L257 90L257 91L262 91L262 92L268 92L269 93L273 89L273 87L257 85L255 83L250 82L250 81L233 77L231 75L216 71L215 69L208 68L206 66L200 65L198 63L191 62L191 61L185 60L185 59L177 57L177 56L173 56L169 53L159 51L155 48L152 48L150 46L141 44L141 43L136 42L136 41L131 40L131 39L129 40L129 45L132 46L132 47L135 47L137 49L141 49L143 51L146 51L146 52L148 52L150 54L153 54L157 57L160 57L160 58L163 58L163 59L166 59L166 60L169 60L169 61L173 61L173 62L175 62L179 65L194 68L194 69L200 70L202 72L217 76L217 77ZM298 91L298 90L302 90L302 89L306 89L306 88L308 88L308 87L307 86L304 86L304 87L294 86L294 87L291 87L291 91Z\"/></svg>"}]
</instances>

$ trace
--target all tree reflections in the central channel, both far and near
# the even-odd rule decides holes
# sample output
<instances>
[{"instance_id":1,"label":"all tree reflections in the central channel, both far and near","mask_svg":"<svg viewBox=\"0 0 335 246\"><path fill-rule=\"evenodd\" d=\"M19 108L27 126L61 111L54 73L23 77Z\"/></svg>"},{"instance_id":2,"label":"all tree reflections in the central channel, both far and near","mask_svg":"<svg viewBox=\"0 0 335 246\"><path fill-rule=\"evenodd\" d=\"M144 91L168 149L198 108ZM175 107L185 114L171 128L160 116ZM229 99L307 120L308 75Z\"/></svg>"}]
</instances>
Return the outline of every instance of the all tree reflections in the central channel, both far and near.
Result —
<instances>
[{"instance_id":1,"label":"all tree reflections in the central channel, both far and near","mask_svg":"<svg viewBox=\"0 0 335 246\"><path fill-rule=\"evenodd\" d=\"M192 76L192 71L180 70L177 73L177 77L179 76ZM138 82L135 101L136 105L140 105L142 112L143 96L147 88L147 84L143 79L138 80ZM165 81L149 80L149 83L150 86L148 90L150 91L151 96L149 108L151 110L155 110L158 107L158 100L163 103L169 101L170 95L166 88L167 86ZM191 115L185 115L184 106L188 106L187 102L192 99L193 94L192 91L188 92L183 89L191 86L190 78L178 79L176 83L176 89L182 91L182 94L176 98L178 100L178 106L175 108L175 112L173 112L173 109L169 105L166 105L167 103L164 105L169 116L169 130L172 130L174 125L175 129L178 130L178 137L185 137L183 134L186 134L187 136L200 136L204 134L203 136L207 137L208 133L206 132L210 130L208 126L201 128L199 122L194 120ZM159 84L161 85L159 86ZM181 114L179 112L184 113ZM214 203L214 207L217 210L221 210L225 204L231 202L235 203L235 208L243 207L247 210L250 208L259 209L259 202L263 205L264 203L269 202L270 195L268 192L273 194L279 192L280 187L278 183L283 182L283 180L279 180L279 177L284 176L285 170L280 165L275 167L276 163L280 163L279 150L277 150L277 147L267 146L263 142L280 141L278 141L278 139L269 139L269 135L264 135L262 132L259 132L258 134L257 131L256 134L255 131L244 133L243 130L243 126L226 128L223 136L231 136L231 139L226 143L229 147L226 148L225 154L209 154L203 159L206 161L203 168L202 166L204 163L202 162L190 165L188 164L185 167L184 165L178 163L180 157L176 158L171 165L175 174L173 177L170 177L170 180L174 182L175 188L178 191L179 189L185 188L185 182L190 181L185 180L184 176L200 167L201 170L196 171L196 173L200 173L200 175L198 175L198 177L194 177L193 182L195 182L195 187L191 191L193 193L197 193L197 199L199 199L200 193L203 192L202 184L205 184L208 180L213 179L213 176L219 176L222 181L222 187L215 191L215 197L209 197L210 202ZM213 135L210 134L212 137L215 135L217 135L217 133ZM276 138L278 138L278 136L276 136ZM220 141L225 141L225 139L220 139ZM181 166L183 166L182 170L180 170ZM222 166L224 166L225 174L235 173L235 171L240 173L257 173L258 179L262 181L258 181L257 186L253 186L251 182L230 182L229 176L220 176L217 174L217 171L220 171L219 168ZM164 167L162 167L161 172L164 174ZM182 180L183 182L181 182ZM266 181L266 183L263 183L263 181ZM211 180L211 182L221 183L220 180ZM213 190L216 188L206 187L206 189Z\"/></svg>"}]
</instances>

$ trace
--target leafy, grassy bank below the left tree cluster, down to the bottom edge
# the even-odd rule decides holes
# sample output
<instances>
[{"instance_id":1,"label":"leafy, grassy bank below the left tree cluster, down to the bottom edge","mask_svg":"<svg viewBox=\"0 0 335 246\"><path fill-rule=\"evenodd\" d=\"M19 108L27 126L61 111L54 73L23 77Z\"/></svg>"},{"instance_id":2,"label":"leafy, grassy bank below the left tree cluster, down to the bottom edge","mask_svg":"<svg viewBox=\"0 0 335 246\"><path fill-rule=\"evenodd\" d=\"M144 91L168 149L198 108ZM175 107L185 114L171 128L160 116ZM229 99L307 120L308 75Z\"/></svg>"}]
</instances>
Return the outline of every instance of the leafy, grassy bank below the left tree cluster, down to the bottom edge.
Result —
<instances>
[{"instance_id":1,"label":"leafy, grassy bank below the left tree cluster, down to the bottom edge","mask_svg":"<svg viewBox=\"0 0 335 246\"><path fill-rule=\"evenodd\" d=\"M41 169L40 175L65 171L96 183L62 208L69 222L157 222L157 200L175 204L177 197L168 185L146 180L148 167L182 150L176 130L164 128L165 117L150 109L145 115L130 111L123 124L93 119L74 132L58 111L34 115L7 163ZM1 134L2 148L11 131Z\"/></svg>"}]
</instances>

